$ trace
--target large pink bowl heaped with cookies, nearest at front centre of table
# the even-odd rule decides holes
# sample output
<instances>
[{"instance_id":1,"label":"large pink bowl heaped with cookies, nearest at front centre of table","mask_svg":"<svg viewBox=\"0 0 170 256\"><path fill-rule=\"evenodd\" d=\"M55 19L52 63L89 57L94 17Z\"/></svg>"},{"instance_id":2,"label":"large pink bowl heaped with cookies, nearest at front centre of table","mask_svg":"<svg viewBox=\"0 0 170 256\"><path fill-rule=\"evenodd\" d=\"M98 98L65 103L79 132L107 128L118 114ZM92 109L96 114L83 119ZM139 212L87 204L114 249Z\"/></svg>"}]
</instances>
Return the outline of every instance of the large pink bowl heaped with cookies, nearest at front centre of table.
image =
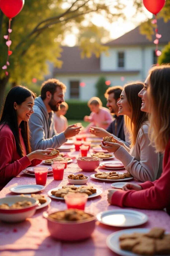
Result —
<instances>
[{"instance_id":1,"label":"large pink bowl heaped with cookies, nearest at front centre of table","mask_svg":"<svg viewBox=\"0 0 170 256\"><path fill-rule=\"evenodd\" d=\"M83 210L68 209L51 214L44 212L51 236L61 241L78 241L91 236L96 217Z\"/></svg>"}]
</instances>

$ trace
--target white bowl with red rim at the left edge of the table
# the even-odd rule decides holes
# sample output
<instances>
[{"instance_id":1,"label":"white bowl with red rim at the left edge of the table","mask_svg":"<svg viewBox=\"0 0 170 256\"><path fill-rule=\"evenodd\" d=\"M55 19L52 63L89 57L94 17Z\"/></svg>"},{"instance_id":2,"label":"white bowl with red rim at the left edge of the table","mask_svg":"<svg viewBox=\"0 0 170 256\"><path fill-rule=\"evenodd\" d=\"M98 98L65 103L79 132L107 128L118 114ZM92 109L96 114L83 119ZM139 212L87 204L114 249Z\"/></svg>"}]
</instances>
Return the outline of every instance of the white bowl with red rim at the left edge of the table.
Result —
<instances>
[{"instance_id":1,"label":"white bowl with red rim at the left edge of the table","mask_svg":"<svg viewBox=\"0 0 170 256\"><path fill-rule=\"evenodd\" d=\"M0 198L0 205L8 204L11 206L16 202L25 200L30 201L32 204L28 206L17 207L15 209L0 208L0 220L6 222L20 222L24 221L26 218L32 217L36 211L36 206L39 204L39 201L35 198L23 196L7 196Z\"/></svg>"}]
</instances>

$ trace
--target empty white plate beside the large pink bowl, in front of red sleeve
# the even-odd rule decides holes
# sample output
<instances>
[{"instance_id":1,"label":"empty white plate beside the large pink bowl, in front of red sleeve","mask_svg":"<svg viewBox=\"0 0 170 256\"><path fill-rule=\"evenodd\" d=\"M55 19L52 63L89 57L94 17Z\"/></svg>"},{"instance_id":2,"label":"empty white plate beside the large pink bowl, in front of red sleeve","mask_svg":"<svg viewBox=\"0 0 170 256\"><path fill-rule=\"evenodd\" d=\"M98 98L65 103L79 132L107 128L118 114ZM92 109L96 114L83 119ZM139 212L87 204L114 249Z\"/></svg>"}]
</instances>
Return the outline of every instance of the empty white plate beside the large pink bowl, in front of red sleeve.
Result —
<instances>
[{"instance_id":1,"label":"empty white plate beside the large pink bowl, in front of red sleeve","mask_svg":"<svg viewBox=\"0 0 170 256\"><path fill-rule=\"evenodd\" d=\"M148 221L147 215L140 211L113 209L97 214L100 223L113 227L134 227Z\"/></svg>"}]
</instances>

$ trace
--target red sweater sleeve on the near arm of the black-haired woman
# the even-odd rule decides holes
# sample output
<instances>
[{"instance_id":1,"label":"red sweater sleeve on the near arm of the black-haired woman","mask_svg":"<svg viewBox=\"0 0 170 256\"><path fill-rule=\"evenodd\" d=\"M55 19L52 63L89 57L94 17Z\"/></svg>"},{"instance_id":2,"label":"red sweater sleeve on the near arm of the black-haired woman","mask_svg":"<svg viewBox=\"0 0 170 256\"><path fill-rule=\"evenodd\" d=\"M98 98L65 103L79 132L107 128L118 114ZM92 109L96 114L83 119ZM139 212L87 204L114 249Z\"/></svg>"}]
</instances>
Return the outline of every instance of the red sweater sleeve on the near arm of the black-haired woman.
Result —
<instances>
[{"instance_id":1,"label":"red sweater sleeve on the near arm of the black-haired woman","mask_svg":"<svg viewBox=\"0 0 170 256\"><path fill-rule=\"evenodd\" d=\"M0 145L3 146L3 152L0 154L0 183L3 184L10 178L16 177L24 168L28 167L31 162L27 156L24 156L12 163L14 143L10 138L1 137Z\"/></svg>"}]
</instances>

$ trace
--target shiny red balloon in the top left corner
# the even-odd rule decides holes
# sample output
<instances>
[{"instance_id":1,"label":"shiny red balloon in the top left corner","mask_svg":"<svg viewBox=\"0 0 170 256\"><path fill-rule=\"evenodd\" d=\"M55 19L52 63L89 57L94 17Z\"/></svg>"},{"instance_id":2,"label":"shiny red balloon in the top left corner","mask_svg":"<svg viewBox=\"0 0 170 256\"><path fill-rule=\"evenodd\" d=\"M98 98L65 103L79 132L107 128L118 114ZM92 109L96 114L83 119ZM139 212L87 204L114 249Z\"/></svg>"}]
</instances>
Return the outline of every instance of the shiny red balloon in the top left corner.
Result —
<instances>
[{"instance_id":1,"label":"shiny red balloon in the top left corner","mask_svg":"<svg viewBox=\"0 0 170 256\"><path fill-rule=\"evenodd\" d=\"M9 19L15 17L23 6L24 0L0 0L0 8Z\"/></svg>"}]
</instances>

